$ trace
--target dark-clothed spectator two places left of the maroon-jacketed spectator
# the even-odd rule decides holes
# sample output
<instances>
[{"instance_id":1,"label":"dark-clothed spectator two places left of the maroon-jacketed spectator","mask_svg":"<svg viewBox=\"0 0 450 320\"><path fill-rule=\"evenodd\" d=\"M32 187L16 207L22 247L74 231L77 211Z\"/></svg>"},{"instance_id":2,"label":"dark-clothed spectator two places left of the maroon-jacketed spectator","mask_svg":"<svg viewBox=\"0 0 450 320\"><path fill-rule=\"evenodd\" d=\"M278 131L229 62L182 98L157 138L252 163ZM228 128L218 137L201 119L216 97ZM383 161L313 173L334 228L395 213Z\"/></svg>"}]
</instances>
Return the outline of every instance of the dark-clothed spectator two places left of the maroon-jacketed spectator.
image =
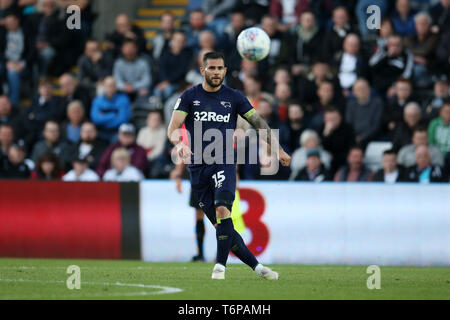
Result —
<instances>
[{"instance_id":1,"label":"dark-clothed spectator two places left of the maroon-jacketed spectator","mask_svg":"<svg viewBox=\"0 0 450 320\"><path fill-rule=\"evenodd\" d=\"M60 157L66 143L60 140L59 125L57 122L49 120L45 123L43 131L43 139L38 141L31 153L31 160L36 163L39 158L45 153L53 153L57 157Z\"/></svg>"}]
</instances>

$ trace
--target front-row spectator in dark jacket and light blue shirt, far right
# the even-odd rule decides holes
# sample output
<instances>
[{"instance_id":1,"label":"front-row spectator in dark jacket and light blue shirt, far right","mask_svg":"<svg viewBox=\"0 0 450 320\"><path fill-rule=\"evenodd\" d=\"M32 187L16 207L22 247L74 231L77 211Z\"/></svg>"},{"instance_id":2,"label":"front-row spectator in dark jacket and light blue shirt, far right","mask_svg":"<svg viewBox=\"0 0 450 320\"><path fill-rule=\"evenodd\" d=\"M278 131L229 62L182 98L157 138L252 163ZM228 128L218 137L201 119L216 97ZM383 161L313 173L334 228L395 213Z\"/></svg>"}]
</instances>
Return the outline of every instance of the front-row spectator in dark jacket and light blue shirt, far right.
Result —
<instances>
[{"instance_id":1,"label":"front-row spectator in dark jacket and light blue shirt, far right","mask_svg":"<svg viewBox=\"0 0 450 320\"><path fill-rule=\"evenodd\" d=\"M448 182L448 176L443 168L431 163L430 151L421 145L416 149L416 164L407 170L407 181L430 183Z\"/></svg>"}]
</instances>

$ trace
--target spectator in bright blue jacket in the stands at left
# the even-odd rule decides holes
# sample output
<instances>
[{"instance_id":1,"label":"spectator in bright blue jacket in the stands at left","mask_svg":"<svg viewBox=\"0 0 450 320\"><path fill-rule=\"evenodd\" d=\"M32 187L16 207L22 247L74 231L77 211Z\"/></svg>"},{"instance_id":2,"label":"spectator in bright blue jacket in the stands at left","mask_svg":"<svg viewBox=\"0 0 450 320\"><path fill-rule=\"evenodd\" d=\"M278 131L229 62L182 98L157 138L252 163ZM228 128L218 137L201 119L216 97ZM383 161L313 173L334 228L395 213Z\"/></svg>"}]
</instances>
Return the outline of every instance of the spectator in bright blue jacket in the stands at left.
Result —
<instances>
[{"instance_id":1,"label":"spectator in bright blue jacket in the stands at left","mask_svg":"<svg viewBox=\"0 0 450 320\"><path fill-rule=\"evenodd\" d=\"M113 142L119 126L130 120L130 99L126 94L117 92L113 77L106 77L103 86L105 93L92 102L91 119L99 130L99 137Z\"/></svg>"}]
</instances>

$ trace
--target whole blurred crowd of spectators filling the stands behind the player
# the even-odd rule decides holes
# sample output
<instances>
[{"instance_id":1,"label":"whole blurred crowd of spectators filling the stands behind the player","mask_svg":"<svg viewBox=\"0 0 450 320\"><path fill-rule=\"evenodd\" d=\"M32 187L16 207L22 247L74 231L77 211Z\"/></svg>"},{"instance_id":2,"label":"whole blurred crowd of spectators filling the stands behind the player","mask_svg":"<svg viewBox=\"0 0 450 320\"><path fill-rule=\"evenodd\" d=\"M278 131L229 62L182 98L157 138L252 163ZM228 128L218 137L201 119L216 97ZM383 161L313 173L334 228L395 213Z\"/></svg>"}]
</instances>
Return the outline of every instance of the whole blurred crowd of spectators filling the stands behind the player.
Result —
<instances>
[{"instance_id":1,"label":"whole blurred crowd of spectators filling the stands behind the player","mask_svg":"<svg viewBox=\"0 0 450 320\"><path fill-rule=\"evenodd\" d=\"M217 50L292 155L241 179L449 182L450 0L204 0L179 28L162 14L148 41L126 14L92 38L92 1L0 0L0 178L168 178L171 112ZM66 27L72 3L81 29ZM271 38L260 62L236 50L250 26Z\"/></svg>"}]
</instances>

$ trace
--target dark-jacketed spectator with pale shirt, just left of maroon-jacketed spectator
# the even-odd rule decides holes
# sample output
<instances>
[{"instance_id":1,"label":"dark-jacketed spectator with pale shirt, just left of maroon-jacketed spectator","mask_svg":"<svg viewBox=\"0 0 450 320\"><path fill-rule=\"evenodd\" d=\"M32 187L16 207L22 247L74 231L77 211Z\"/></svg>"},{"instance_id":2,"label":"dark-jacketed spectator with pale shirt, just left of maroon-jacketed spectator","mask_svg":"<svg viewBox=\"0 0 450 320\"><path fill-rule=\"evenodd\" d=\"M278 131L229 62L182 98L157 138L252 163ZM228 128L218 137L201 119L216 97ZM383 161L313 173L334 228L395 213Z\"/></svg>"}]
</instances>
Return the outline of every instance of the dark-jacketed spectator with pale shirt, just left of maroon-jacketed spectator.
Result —
<instances>
[{"instance_id":1,"label":"dark-jacketed spectator with pale shirt, just left of maroon-jacketed spectator","mask_svg":"<svg viewBox=\"0 0 450 320\"><path fill-rule=\"evenodd\" d=\"M84 122L81 125L80 141L69 145L61 155L64 169L70 170L73 157L86 159L89 168L96 169L107 147L105 141L98 139L95 125L92 122Z\"/></svg>"}]
</instances>

